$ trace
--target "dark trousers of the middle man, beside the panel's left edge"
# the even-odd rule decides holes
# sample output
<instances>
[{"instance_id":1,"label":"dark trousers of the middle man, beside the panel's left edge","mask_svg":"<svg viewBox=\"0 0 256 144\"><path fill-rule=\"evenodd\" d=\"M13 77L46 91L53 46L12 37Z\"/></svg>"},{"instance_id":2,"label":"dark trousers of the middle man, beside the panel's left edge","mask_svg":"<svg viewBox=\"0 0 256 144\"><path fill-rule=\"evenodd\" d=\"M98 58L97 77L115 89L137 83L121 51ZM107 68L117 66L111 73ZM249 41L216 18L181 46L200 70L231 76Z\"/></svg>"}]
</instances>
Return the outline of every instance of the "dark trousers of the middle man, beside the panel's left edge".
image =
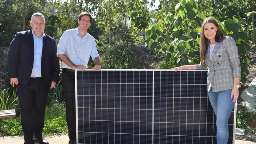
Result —
<instances>
[{"instance_id":1,"label":"dark trousers of the middle man, beside the panel's left edge","mask_svg":"<svg viewBox=\"0 0 256 144\"><path fill-rule=\"evenodd\" d=\"M62 71L62 87L66 103L69 139L76 140L75 72Z\"/></svg>"}]
</instances>

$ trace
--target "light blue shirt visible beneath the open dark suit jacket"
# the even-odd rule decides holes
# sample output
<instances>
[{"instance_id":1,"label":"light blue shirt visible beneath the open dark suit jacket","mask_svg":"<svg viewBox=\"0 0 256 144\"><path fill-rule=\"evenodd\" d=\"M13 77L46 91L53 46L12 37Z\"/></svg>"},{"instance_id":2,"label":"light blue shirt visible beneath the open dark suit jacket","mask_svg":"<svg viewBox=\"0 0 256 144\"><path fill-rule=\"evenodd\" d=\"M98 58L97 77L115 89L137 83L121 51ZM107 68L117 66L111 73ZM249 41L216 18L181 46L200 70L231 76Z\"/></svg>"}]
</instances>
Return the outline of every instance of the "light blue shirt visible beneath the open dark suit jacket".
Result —
<instances>
[{"instance_id":1,"label":"light blue shirt visible beneath the open dark suit jacket","mask_svg":"<svg viewBox=\"0 0 256 144\"><path fill-rule=\"evenodd\" d=\"M31 77L41 77L41 61L42 61L42 51L43 51L43 37L45 33L43 32L42 37L36 37L32 30L33 40L34 40L34 63L32 68Z\"/></svg>"}]
</instances>

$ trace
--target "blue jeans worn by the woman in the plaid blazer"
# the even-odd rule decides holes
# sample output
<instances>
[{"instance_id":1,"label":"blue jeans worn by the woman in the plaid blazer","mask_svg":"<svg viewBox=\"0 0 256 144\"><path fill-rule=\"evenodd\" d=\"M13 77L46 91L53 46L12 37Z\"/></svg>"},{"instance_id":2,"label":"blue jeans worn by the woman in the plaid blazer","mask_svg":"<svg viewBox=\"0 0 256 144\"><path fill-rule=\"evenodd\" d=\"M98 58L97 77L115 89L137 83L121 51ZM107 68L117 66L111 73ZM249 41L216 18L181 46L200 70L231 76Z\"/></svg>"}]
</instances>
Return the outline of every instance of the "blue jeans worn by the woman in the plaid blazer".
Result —
<instances>
[{"instance_id":1,"label":"blue jeans worn by the woman in the plaid blazer","mask_svg":"<svg viewBox=\"0 0 256 144\"><path fill-rule=\"evenodd\" d=\"M217 126L217 144L228 143L228 119L234 104L231 99L231 91L223 90L220 92L208 92L208 97L211 102L211 106L216 115L216 126Z\"/></svg>"}]
</instances>

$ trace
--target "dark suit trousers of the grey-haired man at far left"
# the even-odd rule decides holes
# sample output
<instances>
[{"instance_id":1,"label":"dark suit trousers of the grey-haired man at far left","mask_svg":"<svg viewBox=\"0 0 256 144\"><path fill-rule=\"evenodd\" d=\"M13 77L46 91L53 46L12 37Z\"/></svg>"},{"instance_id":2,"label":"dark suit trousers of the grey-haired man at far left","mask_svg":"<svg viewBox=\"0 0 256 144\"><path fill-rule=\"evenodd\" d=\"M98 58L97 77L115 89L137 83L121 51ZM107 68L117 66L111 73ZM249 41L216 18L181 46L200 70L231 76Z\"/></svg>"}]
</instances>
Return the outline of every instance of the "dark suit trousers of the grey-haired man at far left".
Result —
<instances>
[{"instance_id":1,"label":"dark suit trousers of the grey-haired man at far left","mask_svg":"<svg viewBox=\"0 0 256 144\"><path fill-rule=\"evenodd\" d=\"M44 87L41 78L30 78L27 85L17 85L25 141L33 140L34 135L42 136L49 89L50 87Z\"/></svg>"}]
</instances>

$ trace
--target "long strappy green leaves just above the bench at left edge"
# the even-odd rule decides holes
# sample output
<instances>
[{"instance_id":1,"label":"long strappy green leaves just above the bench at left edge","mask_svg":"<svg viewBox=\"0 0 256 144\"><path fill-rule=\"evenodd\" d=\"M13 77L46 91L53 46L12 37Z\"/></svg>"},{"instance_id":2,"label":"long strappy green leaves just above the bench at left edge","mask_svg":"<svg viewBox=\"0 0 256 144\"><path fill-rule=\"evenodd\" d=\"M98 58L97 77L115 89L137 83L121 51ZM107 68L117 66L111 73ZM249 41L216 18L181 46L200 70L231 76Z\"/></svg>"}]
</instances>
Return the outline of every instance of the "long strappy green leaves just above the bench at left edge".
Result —
<instances>
[{"instance_id":1,"label":"long strappy green leaves just above the bench at left edge","mask_svg":"<svg viewBox=\"0 0 256 144\"><path fill-rule=\"evenodd\" d=\"M0 92L0 110L9 109L15 109L16 111L20 109L16 87L9 87Z\"/></svg>"}]
</instances>

